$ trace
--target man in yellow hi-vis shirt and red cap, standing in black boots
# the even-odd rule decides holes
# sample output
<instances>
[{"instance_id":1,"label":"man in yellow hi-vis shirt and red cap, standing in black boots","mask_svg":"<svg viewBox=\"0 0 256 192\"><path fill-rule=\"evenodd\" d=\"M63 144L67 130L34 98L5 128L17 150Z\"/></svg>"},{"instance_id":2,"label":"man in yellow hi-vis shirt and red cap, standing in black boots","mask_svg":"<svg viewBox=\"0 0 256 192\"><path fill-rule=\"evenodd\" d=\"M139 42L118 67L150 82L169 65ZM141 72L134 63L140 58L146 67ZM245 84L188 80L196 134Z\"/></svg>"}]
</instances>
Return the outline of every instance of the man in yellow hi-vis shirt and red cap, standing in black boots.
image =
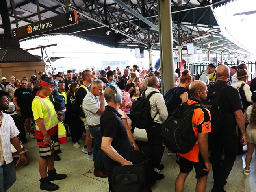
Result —
<instances>
[{"instance_id":1,"label":"man in yellow hi-vis shirt and red cap, standing in black boots","mask_svg":"<svg viewBox=\"0 0 256 192\"><path fill-rule=\"evenodd\" d=\"M58 142L58 121L62 120L62 116L57 115L49 99L49 95L56 85L51 79L43 79L40 82L41 91L36 94L32 102L32 111L36 123L35 137L37 138L41 157L39 161L40 189L47 191L54 191L59 188L58 185L50 181L67 177L66 174L57 174L54 169L53 154L61 152Z\"/></svg>"}]
</instances>

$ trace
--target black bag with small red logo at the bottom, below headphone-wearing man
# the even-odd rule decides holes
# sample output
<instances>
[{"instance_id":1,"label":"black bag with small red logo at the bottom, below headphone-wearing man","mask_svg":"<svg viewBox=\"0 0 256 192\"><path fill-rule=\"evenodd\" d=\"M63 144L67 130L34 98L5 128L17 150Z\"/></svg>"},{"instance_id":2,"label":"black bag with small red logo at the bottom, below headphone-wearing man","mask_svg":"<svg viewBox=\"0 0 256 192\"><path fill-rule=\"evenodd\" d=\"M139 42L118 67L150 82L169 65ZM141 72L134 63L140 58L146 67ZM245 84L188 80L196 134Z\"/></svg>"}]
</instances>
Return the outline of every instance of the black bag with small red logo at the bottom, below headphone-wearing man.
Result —
<instances>
[{"instance_id":1,"label":"black bag with small red logo at the bottom, below headphone-wearing man","mask_svg":"<svg viewBox=\"0 0 256 192\"><path fill-rule=\"evenodd\" d=\"M141 165L115 166L111 176L112 192L151 192L145 184L145 170Z\"/></svg>"}]
</instances>

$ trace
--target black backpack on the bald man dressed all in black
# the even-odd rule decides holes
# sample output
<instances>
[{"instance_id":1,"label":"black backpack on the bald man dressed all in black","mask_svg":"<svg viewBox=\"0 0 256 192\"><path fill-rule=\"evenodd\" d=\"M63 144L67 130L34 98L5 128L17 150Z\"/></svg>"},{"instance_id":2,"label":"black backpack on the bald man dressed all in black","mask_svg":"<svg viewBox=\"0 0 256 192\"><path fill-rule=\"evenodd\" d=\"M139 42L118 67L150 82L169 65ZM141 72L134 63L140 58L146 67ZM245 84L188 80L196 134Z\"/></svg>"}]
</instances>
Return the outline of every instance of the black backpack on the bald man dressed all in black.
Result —
<instances>
[{"instance_id":1,"label":"black backpack on the bald man dressed all in black","mask_svg":"<svg viewBox=\"0 0 256 192\"><path fill-rule=\"evenodd\" d=\"M229 85L223 85L222 87L216 87L210 85L208 87L208 93L206 100L203 101L204 106L209 109L211 113L211 132L216 133L222 125L225 124L225 120L228 120L228 113L223 111L222 93L223 90L229 87ZM224 118L226 117L226 118Z\"/></svg>"}]
</instances>

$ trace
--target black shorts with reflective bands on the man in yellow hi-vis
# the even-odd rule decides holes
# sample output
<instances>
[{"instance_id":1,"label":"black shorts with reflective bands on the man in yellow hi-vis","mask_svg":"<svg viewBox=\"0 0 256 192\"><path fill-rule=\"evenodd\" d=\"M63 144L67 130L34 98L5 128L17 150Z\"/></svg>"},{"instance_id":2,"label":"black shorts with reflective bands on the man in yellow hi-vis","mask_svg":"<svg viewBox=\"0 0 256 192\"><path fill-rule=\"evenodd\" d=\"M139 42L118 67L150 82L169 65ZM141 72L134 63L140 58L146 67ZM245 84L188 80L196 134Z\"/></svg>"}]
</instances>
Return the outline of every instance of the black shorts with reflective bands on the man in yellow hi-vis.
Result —
<instances>
[{"instance_id":1,"label":"black shorts with reflective bands on the man in yellow hi-vis","mask_svg":"<svg viewBox=\"0 0 256 192\"><path fill-rule=\"evenodd\" d=\"M51 140L54 141L53 146L50 146L50 145L43 146L43 145L38 144L39 154L40 154L40 157L42 157L43 159L48 159L50 157L53 157L53 152L61 153L60 146L59 146L59 140L58 140L58 131L56 131L51 136ZM37 142L43 142L43 139L37 138Z\"/></svg>"}]
</instances>

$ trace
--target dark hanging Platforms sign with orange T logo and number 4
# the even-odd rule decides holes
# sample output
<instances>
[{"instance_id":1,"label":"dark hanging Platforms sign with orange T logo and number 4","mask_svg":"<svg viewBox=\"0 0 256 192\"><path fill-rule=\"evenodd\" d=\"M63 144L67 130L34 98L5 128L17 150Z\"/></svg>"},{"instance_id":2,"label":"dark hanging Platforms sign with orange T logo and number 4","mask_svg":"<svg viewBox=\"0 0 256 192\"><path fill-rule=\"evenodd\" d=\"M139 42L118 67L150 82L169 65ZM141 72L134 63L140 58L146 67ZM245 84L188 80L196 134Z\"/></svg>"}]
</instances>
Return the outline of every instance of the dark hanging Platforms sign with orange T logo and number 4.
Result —
<instances>
[{"instance_id":1,"label":"dark hanging Platforms sign with orange T logo and number 4","mask_svg":"<svg viewBox=\"0 0 256 192\"><path fill-rule=\"evenodd\" d=\"M77 24L77 13L76 11L70 11L63 13L55 17L47 18L26 26L22 26L12 30L13 39L22 39L30 37L46 31L52 31L59 28L67 27L70 25Z\"/></svg>"}]
</instances>

